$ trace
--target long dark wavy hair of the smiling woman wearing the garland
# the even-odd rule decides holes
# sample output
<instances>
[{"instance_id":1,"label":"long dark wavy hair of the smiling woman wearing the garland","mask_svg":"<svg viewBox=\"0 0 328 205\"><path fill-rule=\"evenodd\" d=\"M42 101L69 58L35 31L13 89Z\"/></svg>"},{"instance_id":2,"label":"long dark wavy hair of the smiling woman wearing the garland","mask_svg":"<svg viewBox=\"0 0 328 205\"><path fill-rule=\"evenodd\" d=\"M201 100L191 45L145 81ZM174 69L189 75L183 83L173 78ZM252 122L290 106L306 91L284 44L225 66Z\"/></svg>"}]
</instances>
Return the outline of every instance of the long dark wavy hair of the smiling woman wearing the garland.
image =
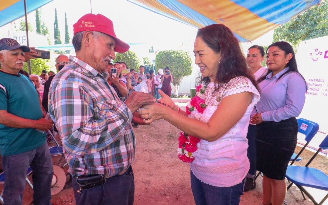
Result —
<instances>
[{"instance_id":1,"label":"long dark wavy hair of the smiling woman wearing the garland","mask_svg":"<svg viewBox=\"0 0 328 205\"><path fill-rule=\"evenodd\" d=\"M255 78L247 67L246 58L241 51L239 42L228 27L223 24L212 24L198 29L196 37L201 37L208 47L214 52L220 53L220 62L215 78L218 85L228 83L235 77L245 76L259 90ZM200 76L196 81L208 84L210 77Z\"/></svg>"}]
</instances>

